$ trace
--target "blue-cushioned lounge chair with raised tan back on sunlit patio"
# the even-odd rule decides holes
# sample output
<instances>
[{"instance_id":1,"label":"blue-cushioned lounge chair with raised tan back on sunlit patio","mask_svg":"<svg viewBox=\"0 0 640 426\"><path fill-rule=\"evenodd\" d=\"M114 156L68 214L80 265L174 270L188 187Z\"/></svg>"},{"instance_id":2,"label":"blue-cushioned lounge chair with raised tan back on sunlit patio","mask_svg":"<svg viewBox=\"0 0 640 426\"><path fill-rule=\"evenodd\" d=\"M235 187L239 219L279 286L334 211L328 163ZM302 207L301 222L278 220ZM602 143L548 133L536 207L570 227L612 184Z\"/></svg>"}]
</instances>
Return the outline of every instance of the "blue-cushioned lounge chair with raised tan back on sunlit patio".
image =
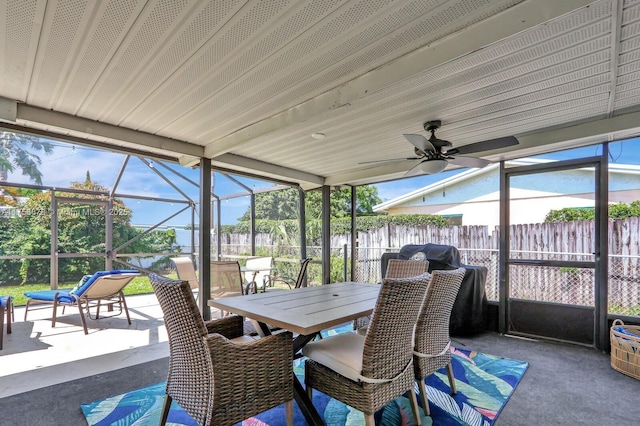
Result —
<instances>
[{"instance_id":1,"label":"blue-cushioned lounge chair with raised tan back on sunlit patio","mask_svg":"<svg viewBox=\"0 0 640 426\"><path fill-rule=\"evenodd\" d=\"M109 311L113 309L114 305L118 305L120 310L114 315L120 315L122 311L124 311L127 315L127 322L131 324L129 310L127 309L127 303L122 290L132 279L138 276L140 276L140 273L135 270L98 271L93 275L83 277L78 285L72 289L31 291L24 293L27 297L24 320L27 320L27 313L32 304L53 303L51 326L55 327L59 305L63 307L63 313L65 306L77 306L80 312L82 326L84 327L84 334L89 334L82 308L84 307L86 309L89 318L96 320L101 318L101 305L107 305ZM96 308L95 316L92 316L90 311L90 308L93 307Z\"/></svg>"}]
</instances>

